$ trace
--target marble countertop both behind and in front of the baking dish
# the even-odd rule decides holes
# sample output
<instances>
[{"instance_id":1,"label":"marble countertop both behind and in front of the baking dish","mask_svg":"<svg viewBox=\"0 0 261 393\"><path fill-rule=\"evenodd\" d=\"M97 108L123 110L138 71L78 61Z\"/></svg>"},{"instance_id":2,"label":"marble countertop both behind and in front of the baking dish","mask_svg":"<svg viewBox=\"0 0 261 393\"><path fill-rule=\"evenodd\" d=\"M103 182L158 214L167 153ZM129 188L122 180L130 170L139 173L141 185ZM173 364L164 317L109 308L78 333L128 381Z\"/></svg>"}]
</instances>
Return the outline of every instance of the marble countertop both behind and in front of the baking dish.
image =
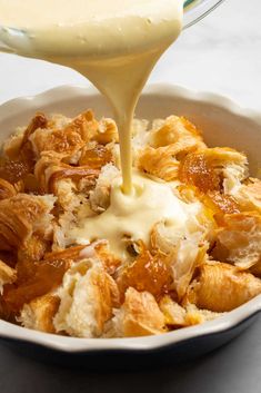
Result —
<instances>
[{"instance_id":1,"label":"marble countertop both behind and in front of the baking dish","mask_svg":"<svg viewBox=\"0 0 261 393\"><path fill-rule=\"evenodd\" d=\"M261 110L261 1L227 0L185 30L150 82L171 82L229 96ZM0 55L0 102L59 85L87 86L77 72L43 61ZM225 347L175 370L99 374L43 365L0 346L0 391L255 393L261 376L261 321ZM18 387L19 384L19 387Z\"/></svg>"}]
</instances>

